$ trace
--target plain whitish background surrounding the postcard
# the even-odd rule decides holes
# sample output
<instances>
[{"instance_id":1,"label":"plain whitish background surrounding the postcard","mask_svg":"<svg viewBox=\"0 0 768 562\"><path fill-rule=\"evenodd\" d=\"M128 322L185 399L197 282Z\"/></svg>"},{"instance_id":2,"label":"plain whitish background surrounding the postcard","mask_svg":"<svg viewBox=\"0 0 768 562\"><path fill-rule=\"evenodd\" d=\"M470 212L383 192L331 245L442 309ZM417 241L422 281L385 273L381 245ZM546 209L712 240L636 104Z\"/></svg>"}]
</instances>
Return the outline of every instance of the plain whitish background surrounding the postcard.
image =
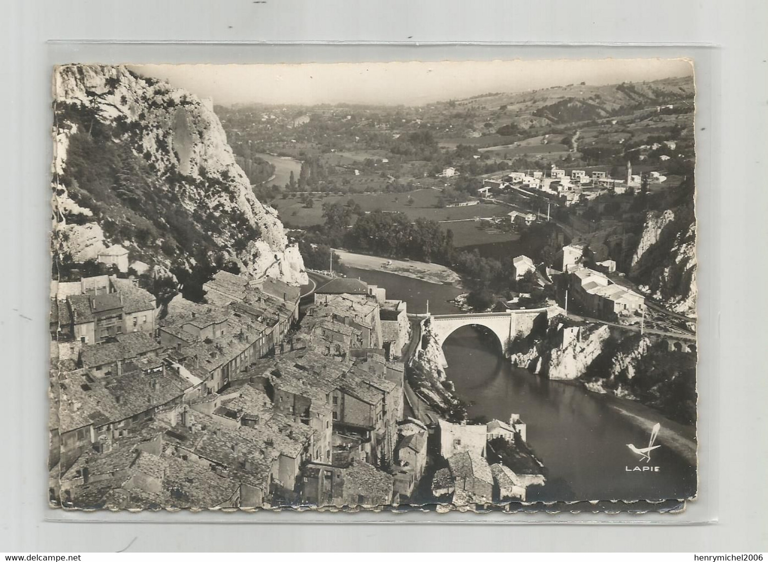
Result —
<instances>
[{"instance_id":1,"label":"plain whitish background surrounding the postcard","mask_svg":"<svg viewBox=\"0 0 768 562\"><path fill-rule=\"evenodd\" d=\"M46 2L4 5L0 107L2 207L0 346L5 455L0 550L766 550L766 114L768 9L762 0L691 2ZM79 41L230 41L191 45L72 45ZM409 47L242 41L406 41ZM684 516L605 524L627 516L542 516L548 524L370 524L389 514L78 514L48 509L45 388L48 353L48 190L51 63L330 61L390 58L551 58L557 48L430 43L570 42L684 45L664 51L571 48L568 56L664 52L700 61L700 362L702 498ZM698 47L697 47L698 46ZM114 517L111 517L114 515ZM463 516L488 521L481 516ZM65 521L55 521L56 519ZM344 524L328 524L339 519ZM429 519L439 519L434 515ZM508 517L523 521L531 517ZM85 521L84 521L85 520ZM88 521L93 520L93 521ZM604 524L589 525L585 520ZM643 521L678 524L647 524ZM97 522L102 521L102 522ZM111 522L103 522L111 521ZM147 521L155 521L149 523ZM159 523L157 521L164 521ZM170 521L170 522L169 522ZM190 521L198 521L190 523ZM242 521L249 521L243 523ZM263 524L254 524L260 521ZM290 522L301 521L304 524ZM318 521L306 524L306 521ZM495 518L498 521L498 517ZM571 521L556 524L555 521ZM694 524L691 521L702 521Z\"/></svg>"}]
</instances>

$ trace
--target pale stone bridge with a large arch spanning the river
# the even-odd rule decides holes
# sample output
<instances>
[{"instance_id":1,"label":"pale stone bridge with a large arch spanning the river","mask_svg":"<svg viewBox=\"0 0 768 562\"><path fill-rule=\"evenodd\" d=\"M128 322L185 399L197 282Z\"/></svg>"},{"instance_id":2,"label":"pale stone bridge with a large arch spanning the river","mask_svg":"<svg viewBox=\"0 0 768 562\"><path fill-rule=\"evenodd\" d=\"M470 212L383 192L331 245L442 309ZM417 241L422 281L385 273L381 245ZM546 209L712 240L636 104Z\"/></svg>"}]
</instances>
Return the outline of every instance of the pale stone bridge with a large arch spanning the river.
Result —
<instances>
[{"instance_id":1,"label":"pale stone bridge with a large arch spanning the river","mask_svg":"<svg viewBox=\"0 0 768 562\"><path fill-rule=\"evenodd\" d=\"M545 330L551 310L541 309L508 310L505 312L478 312L468 314L433 314L429 316L432 332L442 347L453 332L463 326L483 326L493 332L507 352L507 345L515 336L528 336L534 329Z\"/></svg>"}]
</instances>

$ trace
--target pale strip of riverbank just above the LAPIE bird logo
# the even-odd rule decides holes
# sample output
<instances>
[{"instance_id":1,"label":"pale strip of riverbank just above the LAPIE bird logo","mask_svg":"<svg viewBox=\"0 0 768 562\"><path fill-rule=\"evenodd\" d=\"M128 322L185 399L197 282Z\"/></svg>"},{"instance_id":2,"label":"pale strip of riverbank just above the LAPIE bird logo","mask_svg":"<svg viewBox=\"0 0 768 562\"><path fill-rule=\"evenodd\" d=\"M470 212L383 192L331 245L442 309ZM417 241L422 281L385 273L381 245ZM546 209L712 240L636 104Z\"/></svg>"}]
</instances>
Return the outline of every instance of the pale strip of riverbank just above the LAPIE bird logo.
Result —
<instances>
[{"instance_id":1,"label":"pale strip of riverbank just above the LAPIE bird logo","mask_svg":"<svg viewBox=\"0 0 768 562\"><path fill-rule=\"evenodd\" d=\"M627 418L627 421L643 428L650 435L655 424L660 424L661 429L657 441L660 445L669 447L680 455L692 466L697 465L697 441L696 428L674 422L659 412L628 398L619 398L611 394L598 394L607 405Z\"/></svg>"}]
</instances>

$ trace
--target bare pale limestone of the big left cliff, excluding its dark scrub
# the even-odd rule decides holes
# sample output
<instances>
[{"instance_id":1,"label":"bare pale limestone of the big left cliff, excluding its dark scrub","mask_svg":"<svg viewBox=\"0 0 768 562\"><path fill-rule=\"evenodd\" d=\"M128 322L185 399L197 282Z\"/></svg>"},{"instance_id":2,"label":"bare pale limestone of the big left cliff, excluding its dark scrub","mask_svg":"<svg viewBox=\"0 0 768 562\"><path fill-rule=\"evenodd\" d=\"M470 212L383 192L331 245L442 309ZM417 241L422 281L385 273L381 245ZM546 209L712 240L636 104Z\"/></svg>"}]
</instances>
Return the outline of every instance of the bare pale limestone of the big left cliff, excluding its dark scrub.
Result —
<instances>
[{"instance_id":1,"label":"bare pale limestone of the big left cliff, excluding its dark scrub","mask_svg":"<svg viewBox=\"0 0 768 562\"><path fill-rule=\"evenodd\" d=\"M184 207L189 217L194 217L190 226L210 236L212 248L237 263L243 273L306 283L298 248L288 242L276 210L260 203L253 194L210 104L160 81L141 78L123 66L96 64L56 68L53 94L57 110L74 108L71 111L77 114L92 116L113 131L111 141L121 150L127 148L141 157L157 177L152 189L168 192L161 195L172 195L174 202ZM109 236L104 234L107 228L103 222L109 220L108 213L94 217L88 200L81 197L75 201L70 197L65 183L71 190L71 180L65 182L63 177L68 173L71 135L78 133L78 124L69 122L66 113L61 114L64 117L59 117L57 111L52 170L55 251L69 254L73 260L82 258L82 250L78 253L71 240L83 238L83 233L78 232L83 224L94 224L88 230L89 242L94 247L99 243L127 243L129 252L138 253L146 244L106 240ZM83 134L83 125L79 127ZM98 229L101 240L97 240L95 226L104 227ZM136 257L132 255L131 259ZM150 257L154 265L170 266L167 253L157 252ZM188 253L173 257L194 263ZM141 255L142 260L146 258Z\"/></svg>"}]
</instances>

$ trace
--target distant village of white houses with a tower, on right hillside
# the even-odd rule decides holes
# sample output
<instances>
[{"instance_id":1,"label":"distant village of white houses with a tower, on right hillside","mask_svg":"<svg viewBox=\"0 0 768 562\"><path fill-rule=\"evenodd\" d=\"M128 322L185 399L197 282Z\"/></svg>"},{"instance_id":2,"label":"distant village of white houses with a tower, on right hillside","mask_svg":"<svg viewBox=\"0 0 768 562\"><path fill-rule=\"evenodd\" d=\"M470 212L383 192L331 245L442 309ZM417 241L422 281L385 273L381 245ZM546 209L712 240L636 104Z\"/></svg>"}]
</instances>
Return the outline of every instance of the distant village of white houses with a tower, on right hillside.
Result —
<instances>
[{"instance_id":1,"label":"distant village of white houses with a tower, on right hillside","mask_svg":"<svg viewBox=\"0 0 768 562\"><path fill-rule=\"evenodd\" d=\"M591 200L608 190L614 193L627 193L629 188L640 188L644 181L661 183L667 177L659 172L646 175L632 174L632 165L627 162L626 174L621 178L610 177L607 170L570 170L566 171L552 165L545 172L528 170L525 172L509 172L489 177L483 180L478 188L478 197L492 197L495 192L517 189L543 194L552 200L557 200L565 206L571 206L581 200Z\"/></svg>"}]
</instances>

